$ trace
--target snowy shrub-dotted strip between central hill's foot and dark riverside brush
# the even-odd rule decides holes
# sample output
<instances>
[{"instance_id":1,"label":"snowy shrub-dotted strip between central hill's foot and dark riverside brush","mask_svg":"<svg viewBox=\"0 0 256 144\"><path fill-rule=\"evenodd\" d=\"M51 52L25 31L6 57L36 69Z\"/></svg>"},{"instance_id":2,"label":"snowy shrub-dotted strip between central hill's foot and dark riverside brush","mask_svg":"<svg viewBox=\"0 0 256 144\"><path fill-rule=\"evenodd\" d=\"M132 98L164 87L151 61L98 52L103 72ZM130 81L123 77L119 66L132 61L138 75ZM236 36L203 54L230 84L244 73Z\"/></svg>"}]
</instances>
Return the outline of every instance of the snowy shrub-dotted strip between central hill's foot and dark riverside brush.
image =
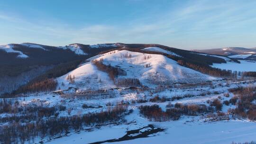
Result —
<instances>
[{"instance_id":1,"label":"snowy shrub-dotted strip between central hill's foot and dark riverside brush","mask_svg":"<svg viewBox=\"0 0 256 144\"><path fill-rule=\"evenodd\" d=\"M180 102L180 103L189 103L189 104L207 104L206 101L208 99L216 99L219 96L223 97L224 93L229 93L228 89L229 88L237 88L238 86L251 86L256 83L243 83L244 81L238 82L238 83L232 83L229 85L225 85L225 81L222 81L222 85L219 85L219 82L214 84L216 88L212 88L210 86L206 87L198 87L198 88L184 88L184 89L179 89L179 88L174 88L174 89L169 89L169 90L163 90L161 92L151 92L145 91L145 92L129 92L129 93L124 93L124 94L116 94L112 95L109 98L104 98L105 96L101 95L95 95L94 97L90 99L65 99L62 98L58 94L53 94L53 93L39 93L39 94L33 94L29 97L20 98L21 100L20 104L21 105L46 105L49 107L55 106L55 105L63 105L66 106L67 108L72 108L72 114L76 114L78 111L82 110L83 113L87 113L88 111L95 112L95 111L100 111L102 108L95 109L95 108L88 108L88 109L83 109L82 104L86 103L90 106L103 106L103 108L106 106L107 103L111 104L116 104L120 101L127 101L131 103L132 100L137 100L137 99L151 99L158 95L159 97L166 97L166 98L172 98L174 96L179 96L183 97L185 95L190 95L193 96L191 98L184 98L184 99L179 99L179 100L174 100L172 103ZM219 94L214 94L215 92L218 92ZM202 96L203 95L203 96ZM232 94L230 94L232 96ZM54 97L53 97L54 96ZM231 97L226 98L223 97L223 100L229 100ZM143 105L150 105L152 103L144 103ZM168 101L163 102L163 103L157 103L159 104L162 108L165 108L165 106L168 104ZM134 106L139 106L140 104L135 104ZM224 108L224 109L228 109ZM66 114L66 113L65 113Z\"/></svg>"}]
</instances>

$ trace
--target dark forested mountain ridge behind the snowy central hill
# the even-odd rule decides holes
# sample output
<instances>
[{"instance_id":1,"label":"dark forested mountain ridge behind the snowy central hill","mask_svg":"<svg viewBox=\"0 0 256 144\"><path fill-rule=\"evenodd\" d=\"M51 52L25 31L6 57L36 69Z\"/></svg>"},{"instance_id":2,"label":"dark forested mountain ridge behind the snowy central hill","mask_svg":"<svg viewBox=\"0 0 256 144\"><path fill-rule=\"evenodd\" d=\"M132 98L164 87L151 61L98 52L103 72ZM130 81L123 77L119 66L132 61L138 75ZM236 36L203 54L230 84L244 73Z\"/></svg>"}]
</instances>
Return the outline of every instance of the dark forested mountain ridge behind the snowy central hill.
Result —
<instances>
[{"instance_id":1,"label":"dark forested mountain ridge behind the snowy central hill","mask_svg":"<svg viewBox=\"0 0 256 144\"><path fill-rule=\"evenodd\" d=\"M101 56L114 50L164 55L183 67L194 68L196 71L205 74L207 74L206 71L218 73L218 70L210 67L213 63L227 63L228 61L239 63L235 59L226 56L200 54L158 44L111 43L84 45L73 43L65 46L49 46L22 43L1 45L0 80L3 81L0 81L0 94L17 90L21 85L26 85L28 82L33 83L63 76L83 63L91 61L92 57ZM147 66L150 66L150 64ZM6 82L8 80L17 81L17 83L8 83Z\"/></svg>"}]
</instances>

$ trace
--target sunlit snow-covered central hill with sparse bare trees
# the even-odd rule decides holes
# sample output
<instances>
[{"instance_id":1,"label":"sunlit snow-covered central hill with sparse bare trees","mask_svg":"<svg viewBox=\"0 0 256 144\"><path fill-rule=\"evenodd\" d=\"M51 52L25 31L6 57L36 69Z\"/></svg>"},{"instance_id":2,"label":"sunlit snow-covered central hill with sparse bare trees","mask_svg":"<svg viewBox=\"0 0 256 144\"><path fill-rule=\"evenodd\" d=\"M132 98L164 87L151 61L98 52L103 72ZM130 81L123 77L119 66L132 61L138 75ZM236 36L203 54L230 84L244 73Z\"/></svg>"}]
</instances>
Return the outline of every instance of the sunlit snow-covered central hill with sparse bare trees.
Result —
<instances>
[{"instance_id":1,"label":"sunlit snow-covered central hill with sparse bare trees","mask_svg":"<svg viewBox=\"0 0 256 144\"><path fill-rule=\"evenodd\" d=\"M129 54L131 54L131 58L124 56ZM159 84L173 84L177 82L202 83L216 79L180 66L176 61L160 54L143 54L127 50L116 50L95 56L94 58L97 60L102 58L104 64L118 66L127 72L126 76L119 76L119 78L137 78L143 85L151 88ZM68 75L74 75L75 82L73 84L69 84L69 81L66 80ZM57 81L61 89L67 89L71 86L81 90L102 90L116 87L108 77L108 74L99 71L91 62L85 63L72 72L65 74L58 78Z\"/></svg>"}]
</instances>

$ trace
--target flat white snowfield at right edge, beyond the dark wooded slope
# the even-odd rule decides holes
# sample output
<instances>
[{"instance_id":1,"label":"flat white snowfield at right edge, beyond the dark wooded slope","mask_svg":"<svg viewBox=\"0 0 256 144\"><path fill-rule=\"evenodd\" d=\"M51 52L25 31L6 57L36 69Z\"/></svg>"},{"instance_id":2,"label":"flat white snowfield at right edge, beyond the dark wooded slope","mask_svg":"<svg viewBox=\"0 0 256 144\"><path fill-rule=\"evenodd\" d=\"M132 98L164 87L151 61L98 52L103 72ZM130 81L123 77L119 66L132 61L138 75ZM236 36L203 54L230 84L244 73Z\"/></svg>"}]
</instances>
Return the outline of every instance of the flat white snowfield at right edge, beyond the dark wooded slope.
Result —
<instances>
[{"instance_id":1,"label":"flat white snowfield at right edge, beyond the dark wooded slope","mask_svg":"<svg viewBox=\"0 0 256 144\"><path fill-rule=\"evenodd\" d=\"M256 72L256 63L251 61L240 61L241 63L213 63L212 67L223 70L232 70L238 72Z\"/></svg>"}]
</instances>

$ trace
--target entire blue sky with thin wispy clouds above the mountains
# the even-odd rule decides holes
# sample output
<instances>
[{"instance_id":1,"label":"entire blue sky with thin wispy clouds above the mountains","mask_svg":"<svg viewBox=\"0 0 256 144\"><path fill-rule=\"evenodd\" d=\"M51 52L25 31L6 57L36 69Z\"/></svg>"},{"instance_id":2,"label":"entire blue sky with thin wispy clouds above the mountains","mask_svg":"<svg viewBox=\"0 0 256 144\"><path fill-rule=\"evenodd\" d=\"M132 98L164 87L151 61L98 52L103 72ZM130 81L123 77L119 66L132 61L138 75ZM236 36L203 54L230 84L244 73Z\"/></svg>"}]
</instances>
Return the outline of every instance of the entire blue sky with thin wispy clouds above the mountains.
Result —
<instances>
[{"instance_id":1,"label":"entire blue sky with thin wispy clouds above the mountains","mask_svg":"<svg viewBox=\"0 0 256 144\"><path fill-rule=\"evenodd\" d=\"M0 44L256 47L256 0L1 0Z\"/></svg>"}]
</instances>

